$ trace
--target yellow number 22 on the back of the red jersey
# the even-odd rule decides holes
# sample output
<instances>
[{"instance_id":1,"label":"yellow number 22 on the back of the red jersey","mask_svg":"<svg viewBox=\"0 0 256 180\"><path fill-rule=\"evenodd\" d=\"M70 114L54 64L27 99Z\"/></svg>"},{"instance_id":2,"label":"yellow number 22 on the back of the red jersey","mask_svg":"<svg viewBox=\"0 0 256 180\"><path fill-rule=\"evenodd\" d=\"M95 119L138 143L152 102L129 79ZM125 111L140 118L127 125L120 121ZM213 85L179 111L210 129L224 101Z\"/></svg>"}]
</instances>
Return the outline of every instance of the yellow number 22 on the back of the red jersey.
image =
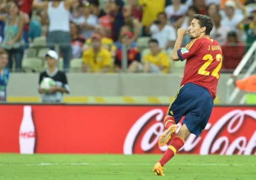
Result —
<instances>
[{"instance_id":1,"label":"yellow number 22 on the back of the red jersey","mask_svg":"<svg viewBox=\"0 0 256 180\"><path fill-rule=\"evenodd\" d=\"M206 68L209 67L209 65L211 64L211 62L213 61L213 57L211 54L206 54L203 56L203 60L206 61L202 67L200 67L200 69L198 70L198 74L200 75L210 75L210 71L206 71ZM222 64L222 55L221 54L217 54L216 55L216 60L219 61L220 63L218 64L218 66L212 71L211 75L216 77L217 79L220 78L219 75L219 71L221 68L221 64Z\"/></svg>"}]
</instances>

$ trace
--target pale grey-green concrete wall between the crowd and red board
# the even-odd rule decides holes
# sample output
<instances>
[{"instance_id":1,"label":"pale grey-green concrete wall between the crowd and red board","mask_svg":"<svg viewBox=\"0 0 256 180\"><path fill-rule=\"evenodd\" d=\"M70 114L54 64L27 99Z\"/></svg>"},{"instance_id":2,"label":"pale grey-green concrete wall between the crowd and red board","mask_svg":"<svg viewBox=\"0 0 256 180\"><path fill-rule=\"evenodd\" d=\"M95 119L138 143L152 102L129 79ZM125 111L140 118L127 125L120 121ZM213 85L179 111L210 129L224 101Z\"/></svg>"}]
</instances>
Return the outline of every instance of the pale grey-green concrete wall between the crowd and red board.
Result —
<instances>
[{"instance_id":1,"label":"pale grey-green concrete wall between the crowd and red board","mask_svg":"<svg viewBox=\"0 0 256 180\"><path fill-rule=\"evenodd\" d=\"M83 74L68 73L70 96L174 96L181 74ZM220 102L225 103L225 83L230 74L222 74L217 90ZM12 73L8 96L38 96L39 74Z\"/></svg>"}]
</instances>

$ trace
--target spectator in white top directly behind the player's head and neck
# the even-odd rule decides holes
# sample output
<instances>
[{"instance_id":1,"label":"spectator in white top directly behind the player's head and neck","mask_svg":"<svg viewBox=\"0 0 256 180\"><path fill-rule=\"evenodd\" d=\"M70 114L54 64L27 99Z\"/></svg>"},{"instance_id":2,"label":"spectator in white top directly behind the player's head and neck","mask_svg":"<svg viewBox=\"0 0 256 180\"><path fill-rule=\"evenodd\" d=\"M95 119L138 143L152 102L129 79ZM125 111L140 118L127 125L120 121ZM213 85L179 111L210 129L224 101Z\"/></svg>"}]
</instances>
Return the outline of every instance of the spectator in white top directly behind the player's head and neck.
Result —
<instances>
[{"instance_id":1,"label":"spectator in white top directly behind the player's head and neck","mask_svg":"<svg viewBox=\"0 0 256 180\"><path fill-rule=\"evenodd\" d=\"M211 16L211 19L214 23L214 26L211 30L211 37L218 41L218 43L223 45L227 40L227 35L229 32L229 28L224 24L220 24L221 15L220 13L215 13Z\"/></svg>"}]
</instances>

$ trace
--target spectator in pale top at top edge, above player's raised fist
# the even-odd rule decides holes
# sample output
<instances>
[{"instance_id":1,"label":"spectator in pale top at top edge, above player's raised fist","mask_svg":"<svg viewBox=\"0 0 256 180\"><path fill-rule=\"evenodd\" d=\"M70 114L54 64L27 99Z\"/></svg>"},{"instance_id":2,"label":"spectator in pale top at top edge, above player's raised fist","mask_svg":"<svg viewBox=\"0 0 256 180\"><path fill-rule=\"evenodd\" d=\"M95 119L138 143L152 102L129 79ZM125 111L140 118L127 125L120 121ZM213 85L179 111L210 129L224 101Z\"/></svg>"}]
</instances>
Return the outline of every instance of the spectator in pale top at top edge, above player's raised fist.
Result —
<instances>
[{"instance_id":1,"label":"spectator in pale top at top edge, above player's raised fist","mask_svg":"<svg viewBox=\"0 0 256 180\"><path fill-rule=\"evenodd\" d=\"M184 16L187 10L188 7L184 4L181 4L181 0L172 0L172 5L168 5L164 9L164 12L167 14L170 22L173 23Z\"/></svg>"}]
</instances>

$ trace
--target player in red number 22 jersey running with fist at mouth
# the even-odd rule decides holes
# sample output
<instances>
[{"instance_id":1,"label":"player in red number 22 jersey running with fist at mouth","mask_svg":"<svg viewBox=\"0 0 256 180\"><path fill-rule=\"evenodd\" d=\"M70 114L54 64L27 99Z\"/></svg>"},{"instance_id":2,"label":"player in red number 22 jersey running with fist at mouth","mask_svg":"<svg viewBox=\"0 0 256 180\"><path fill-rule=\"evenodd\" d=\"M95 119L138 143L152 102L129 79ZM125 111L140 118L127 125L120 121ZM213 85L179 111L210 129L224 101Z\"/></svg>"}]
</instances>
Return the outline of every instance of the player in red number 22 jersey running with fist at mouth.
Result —
<instances>
[{"instance_id":1,"label":"player in red number 22 jersey running with fist at mouth","mask_svg":"<svg viewBox=\"0 0 256 180\"><path fill-rule=\"evenodd\" d=\"M153 168L156 175L164 175L164 164L175 156L190 133L200 135L211 115L222 65L220 45L209 36L212 27L209 16L194 15L188 29L192 41L184 48L181 42L187 32L185 28L178 29L173 60L186 60L186 66L181 87L164 118L166 130L159 138L159 146L167 144L168 149ZM182 116L185 118L181 129L173 136Z\"/></svg>"}]
</instances>

